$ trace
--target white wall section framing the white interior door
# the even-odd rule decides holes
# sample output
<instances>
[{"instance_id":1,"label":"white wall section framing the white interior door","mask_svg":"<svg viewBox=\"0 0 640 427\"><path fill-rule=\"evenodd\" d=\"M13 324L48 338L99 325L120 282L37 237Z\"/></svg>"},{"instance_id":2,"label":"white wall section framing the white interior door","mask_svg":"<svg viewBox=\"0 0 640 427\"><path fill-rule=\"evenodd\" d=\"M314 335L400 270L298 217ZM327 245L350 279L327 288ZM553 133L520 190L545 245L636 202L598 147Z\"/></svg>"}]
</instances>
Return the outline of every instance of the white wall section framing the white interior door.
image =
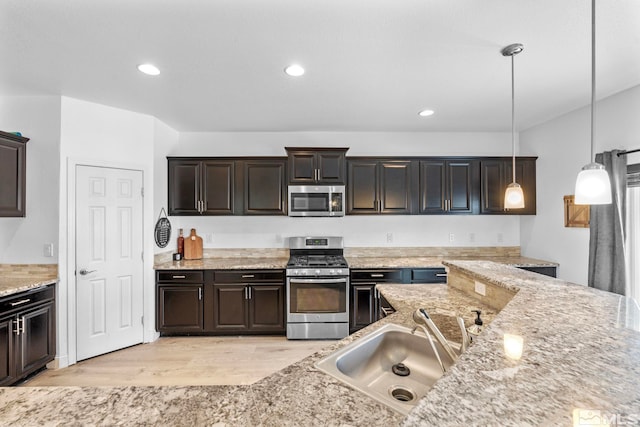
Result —
<instances>
[{"instance_id":1,"label":"white wall section framing the white interior door","mask_svg":"<svg viewBox=\"0 0 640 427\"><path fill-rule=\"evenodd\" d=\"M73 338L74 308L69 300L73 300L74 254L71 251L73 238L71 218L73 206L70 205L68 191L69 177L73 176L72 168L77 163L126 167L142 170L146 197L144 200L144 300L145 309L145 341L157 336L154 322L154 272L153 254L155 249L153 227L155 213L153 195L154 187L154 144L156 132L161 146L167 140L175 138L170 128L157 123L153 117L107 107L73 98L62 97L61 132L60 132L60 284L59 284L59 316L58 332L60 364L66 365L66 358L74 359L74 354L66 353L69 336ZM71 183L73 184L73 183ZM71 226L70 226L71 225ZM65 314L69 314L67 323ZM70 335L69 335L70 334ZM71 338L71 339L72 339Z\"/></svg>"}]
</instances>

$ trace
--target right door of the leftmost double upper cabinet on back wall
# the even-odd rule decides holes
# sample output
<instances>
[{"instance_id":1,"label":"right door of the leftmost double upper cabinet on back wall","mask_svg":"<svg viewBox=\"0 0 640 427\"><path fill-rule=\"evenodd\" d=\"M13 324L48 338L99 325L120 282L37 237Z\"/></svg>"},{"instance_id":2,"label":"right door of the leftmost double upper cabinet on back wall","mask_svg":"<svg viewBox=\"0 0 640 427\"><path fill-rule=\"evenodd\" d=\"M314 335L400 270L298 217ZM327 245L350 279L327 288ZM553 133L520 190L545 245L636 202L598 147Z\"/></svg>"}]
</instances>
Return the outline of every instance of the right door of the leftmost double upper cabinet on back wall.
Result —
<instances>
[{"instance_id":1,"label":"right door of the leftmost double upper cabinet on back wall","mask_svg":"<svg viewBox=\"0 0 640 427\"><path fill-rule=\"evenodd\" d=\"M235 196L235 162L202 162L202 201L205 215L233 215Z\"/></svg>"}]
</instances>

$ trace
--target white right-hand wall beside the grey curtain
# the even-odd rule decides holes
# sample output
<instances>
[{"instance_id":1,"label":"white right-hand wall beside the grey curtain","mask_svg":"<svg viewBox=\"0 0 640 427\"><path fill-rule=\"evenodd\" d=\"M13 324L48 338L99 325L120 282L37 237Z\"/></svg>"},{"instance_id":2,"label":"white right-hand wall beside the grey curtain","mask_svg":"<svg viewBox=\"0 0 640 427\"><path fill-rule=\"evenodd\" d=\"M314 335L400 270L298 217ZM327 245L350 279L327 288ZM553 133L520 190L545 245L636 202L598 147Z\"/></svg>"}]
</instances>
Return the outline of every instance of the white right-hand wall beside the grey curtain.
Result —
<instances>
[{"instance_id":1,"label":"white right-hand wall beside the grey curtain","mask_svg":"<svg viewBox=\"0 0 640 427\"><path fill-rule=\"evenodd\" d=\"M596 105L596 152L640 148L640 86ZM565 195L574 194L578 172L590 162L589 106L520 133L523 155L536 155L538 213L521 217L522 254L560 263L559 277L587 283L589 229L564 227ZM640 155L627 158L640 162Z\"/></svg>"}]
</instances>

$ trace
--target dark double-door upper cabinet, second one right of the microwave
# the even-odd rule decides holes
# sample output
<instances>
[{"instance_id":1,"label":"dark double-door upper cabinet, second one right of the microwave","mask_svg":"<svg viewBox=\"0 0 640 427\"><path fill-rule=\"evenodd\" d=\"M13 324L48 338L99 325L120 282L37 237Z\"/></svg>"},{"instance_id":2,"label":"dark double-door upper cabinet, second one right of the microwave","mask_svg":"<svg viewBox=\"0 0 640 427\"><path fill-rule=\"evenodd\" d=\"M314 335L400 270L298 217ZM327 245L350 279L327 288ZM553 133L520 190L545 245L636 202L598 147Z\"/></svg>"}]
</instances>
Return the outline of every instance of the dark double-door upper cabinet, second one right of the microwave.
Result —
<instances>
[{"instance_id":1,"label":"dark double-door upper cabinet, second one right of the microwave","mask_svg":"<svg viewBox=\"0 0 640 427\"><path fill-rule=\"evenodd\" d=\"M479 162L467 159L420 161L420 213L478 213Z\"/></svg>"}]
</instances>

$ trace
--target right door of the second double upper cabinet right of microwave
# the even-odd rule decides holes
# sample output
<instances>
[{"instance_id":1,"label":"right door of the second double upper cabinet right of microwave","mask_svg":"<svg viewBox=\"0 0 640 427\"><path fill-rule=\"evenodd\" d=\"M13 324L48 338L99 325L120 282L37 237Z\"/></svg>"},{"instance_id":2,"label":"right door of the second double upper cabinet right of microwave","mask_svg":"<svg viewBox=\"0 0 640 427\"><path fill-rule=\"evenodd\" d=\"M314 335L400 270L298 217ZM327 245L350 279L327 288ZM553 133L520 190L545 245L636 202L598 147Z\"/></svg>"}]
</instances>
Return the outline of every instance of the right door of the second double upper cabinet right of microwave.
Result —
<instances>
[{"instance_id":1,"label":"right door of the second double upper cabinet right of microwave","mask_svg":"<svg viewBox=\"0 0 640 427\"><path fill-rule=\"evenodd\" d=\"M447 193L449 199L448 211L451 213L474 212L474 199L477 200L478 186L477 162L448 161L447 162ZM477 202L475 203L477 205ZM477 212L477 208L475 209Z\"/></svg>"}]
</instances>

